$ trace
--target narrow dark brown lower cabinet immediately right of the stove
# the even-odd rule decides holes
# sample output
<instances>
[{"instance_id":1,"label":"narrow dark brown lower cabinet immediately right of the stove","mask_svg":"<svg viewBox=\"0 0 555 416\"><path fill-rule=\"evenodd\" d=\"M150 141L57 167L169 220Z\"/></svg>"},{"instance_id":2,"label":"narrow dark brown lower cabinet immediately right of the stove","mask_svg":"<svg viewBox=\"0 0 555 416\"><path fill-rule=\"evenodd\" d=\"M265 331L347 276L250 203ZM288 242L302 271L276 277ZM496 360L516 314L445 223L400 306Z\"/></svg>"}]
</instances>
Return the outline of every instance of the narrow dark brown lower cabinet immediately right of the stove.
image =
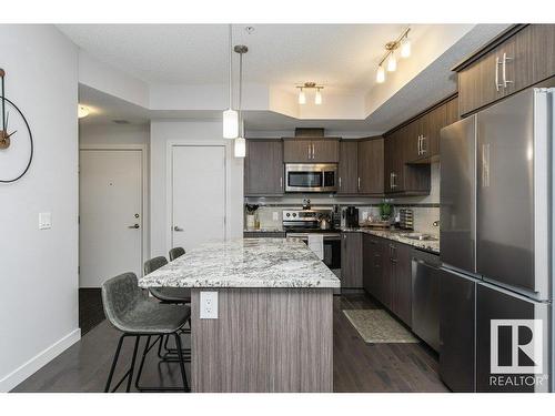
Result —
<instances>
[{"instance_id":1,"label":"narrow dark brown lower cabinet immediately right of the stove","mask_svg":"<svg viewBox=\"0 0 555 416\"><path fill-rule=\"evenodd\" d=\"M362 288L362 233L341 234L341 287Z\"/></svg>"}]
</instances>

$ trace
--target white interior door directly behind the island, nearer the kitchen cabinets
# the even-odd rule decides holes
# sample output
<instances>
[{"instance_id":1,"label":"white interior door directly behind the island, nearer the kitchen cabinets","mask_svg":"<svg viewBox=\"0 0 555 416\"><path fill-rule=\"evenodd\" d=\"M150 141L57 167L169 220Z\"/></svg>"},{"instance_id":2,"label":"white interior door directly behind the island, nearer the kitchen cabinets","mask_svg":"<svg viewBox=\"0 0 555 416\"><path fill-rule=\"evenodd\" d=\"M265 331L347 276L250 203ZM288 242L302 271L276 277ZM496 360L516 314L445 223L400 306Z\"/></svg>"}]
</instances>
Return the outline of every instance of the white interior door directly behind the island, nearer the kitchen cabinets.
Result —
<instances>
[{"instance_id":1,"label":"white interior door directly behind the island, nearer the kitchen cabinets","mask_svg":"<svg viewBox=\"0 0 555 416\"><path fill-rule=\"evenodd\" d=\"M172 245L225 239L225 148L172 148Z\"/></svg>"}]
</instances>

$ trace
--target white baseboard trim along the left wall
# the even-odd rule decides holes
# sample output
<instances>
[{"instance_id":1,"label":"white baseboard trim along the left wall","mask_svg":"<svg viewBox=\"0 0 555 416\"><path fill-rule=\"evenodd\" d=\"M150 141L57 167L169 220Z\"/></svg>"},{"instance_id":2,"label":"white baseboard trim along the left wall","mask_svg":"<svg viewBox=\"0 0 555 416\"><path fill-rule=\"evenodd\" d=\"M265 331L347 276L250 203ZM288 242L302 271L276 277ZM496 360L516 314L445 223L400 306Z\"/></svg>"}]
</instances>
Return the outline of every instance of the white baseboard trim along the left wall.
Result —
<instances>
[{"instance_id":1,"label":"white baseboard trim along the left wall","mask_svg":"<svg viewBox=\"0 0 555 416\"><path fill-rule=\"evenodd\" d=\"M81 329L77 328L37 354L27 363L23 363L21 366L0 379L0 393L9 392L13 387L18 386L21 382L37 373L46 364L50 363L79 339L81 339Z\"/></svg>"}]
</instances>

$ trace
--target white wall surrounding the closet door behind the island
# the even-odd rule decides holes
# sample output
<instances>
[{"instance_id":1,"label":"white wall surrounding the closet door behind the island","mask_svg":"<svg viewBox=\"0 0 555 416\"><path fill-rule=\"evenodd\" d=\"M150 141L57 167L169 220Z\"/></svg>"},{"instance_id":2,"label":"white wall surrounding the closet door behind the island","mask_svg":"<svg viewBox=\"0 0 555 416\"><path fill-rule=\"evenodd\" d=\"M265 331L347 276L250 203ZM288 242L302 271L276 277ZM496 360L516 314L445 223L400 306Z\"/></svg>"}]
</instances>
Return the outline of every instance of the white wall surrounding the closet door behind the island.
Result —
<instances>
[{"instance_id":1,"label":"white wall surrounding the closet door behind the island","mask_svg":"<svg viewBox=\"0 0 555 416\"><path fill-rule=\"evenodd\" d=\"M169 183L170 143L221 142L228 145L226 162L231 173L228 177L228 226L230 239L243 233L243 160L233 158L233 141L222 139L220 121L152 121L150 131L150 209L151 256L167 255L169 247ZM202 186L202 183L199 184Z\"/></svg>"}]
</instances>

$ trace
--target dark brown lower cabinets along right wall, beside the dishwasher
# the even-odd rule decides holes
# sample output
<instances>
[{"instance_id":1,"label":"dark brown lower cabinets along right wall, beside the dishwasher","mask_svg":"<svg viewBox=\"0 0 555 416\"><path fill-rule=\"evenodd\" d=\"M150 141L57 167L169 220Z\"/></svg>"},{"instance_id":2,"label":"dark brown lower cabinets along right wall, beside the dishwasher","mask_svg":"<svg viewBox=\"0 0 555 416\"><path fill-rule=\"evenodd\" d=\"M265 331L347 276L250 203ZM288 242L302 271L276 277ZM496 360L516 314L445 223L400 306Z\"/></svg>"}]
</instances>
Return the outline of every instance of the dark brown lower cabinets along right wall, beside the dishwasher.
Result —
<instances>
[{"instance_id":1,"label":"dark brown lower cabinets along right wall, beside the dishwasher","mask_svg":"<svg viewBox=\"0 0 555 416\"><path fill-rule=\"evenodd\" d=\"M411 246L364 234L363 287L412 325Z\"/></svg>"}]
</instances>

